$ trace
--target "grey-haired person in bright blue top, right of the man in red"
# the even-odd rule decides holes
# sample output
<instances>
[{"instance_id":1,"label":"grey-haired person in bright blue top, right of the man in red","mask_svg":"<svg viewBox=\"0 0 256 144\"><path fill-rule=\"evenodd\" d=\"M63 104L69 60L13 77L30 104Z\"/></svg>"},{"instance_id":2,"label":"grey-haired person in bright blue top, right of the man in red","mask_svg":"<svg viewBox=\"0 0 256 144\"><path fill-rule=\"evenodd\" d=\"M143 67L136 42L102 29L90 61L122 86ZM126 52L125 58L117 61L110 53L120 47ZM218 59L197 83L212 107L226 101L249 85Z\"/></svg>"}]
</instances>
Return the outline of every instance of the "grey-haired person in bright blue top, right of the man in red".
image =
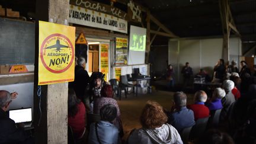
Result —
<instances>
[{"instance_id":1,"label":"grey-haired person in bright blue top, right of the man in red","mask_svg":"<svg viewBox=\"0 0 256 144\"><path fill-rule=\"evenodd\" d=\"M225 97L226 92L222 88L216 88L213 91L212 98L210 98L209 102L206 104L206 106L209 108L209 110L219 110L222 109L222 103L221 99Z\"/></svg>"}]
</instances>

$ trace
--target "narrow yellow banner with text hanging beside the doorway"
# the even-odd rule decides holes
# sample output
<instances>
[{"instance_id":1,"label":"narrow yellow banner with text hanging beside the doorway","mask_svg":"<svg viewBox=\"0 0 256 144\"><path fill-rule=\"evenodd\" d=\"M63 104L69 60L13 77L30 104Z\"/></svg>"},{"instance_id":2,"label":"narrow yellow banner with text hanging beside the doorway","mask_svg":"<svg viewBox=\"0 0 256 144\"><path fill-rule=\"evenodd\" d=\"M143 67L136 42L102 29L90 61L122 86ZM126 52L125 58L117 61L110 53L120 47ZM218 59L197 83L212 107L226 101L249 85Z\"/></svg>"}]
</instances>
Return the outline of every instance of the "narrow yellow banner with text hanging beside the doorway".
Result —
<instances>
[{"instance_id":1,"label":"narrow yellow banner with text hanging beside the doorway","mask_svg":"<svg viewBox=\"0 0 256 144\"><path fill-rule=\"evenodd\" d=\"M107 74L108 74L108 44L100 44L101 52L100 52L100 65L101 65L101 72L105 74L104 80L108 81Z\"/></svg>"}]
</instances>

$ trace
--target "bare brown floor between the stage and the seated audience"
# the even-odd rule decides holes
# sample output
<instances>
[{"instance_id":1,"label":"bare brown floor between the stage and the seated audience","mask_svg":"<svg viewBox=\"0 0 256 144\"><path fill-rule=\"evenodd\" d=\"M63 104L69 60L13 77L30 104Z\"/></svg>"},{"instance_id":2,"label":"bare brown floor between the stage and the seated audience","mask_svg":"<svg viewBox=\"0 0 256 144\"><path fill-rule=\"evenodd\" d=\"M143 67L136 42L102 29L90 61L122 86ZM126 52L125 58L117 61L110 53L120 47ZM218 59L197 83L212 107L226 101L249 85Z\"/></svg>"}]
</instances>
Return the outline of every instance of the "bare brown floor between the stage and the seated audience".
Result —
<instances>
[{"instance_id":1,"label":"bare brown floor between the stage and the seated audience","mask_svg":"<svg viewBox=\"0 0 256 144\"><path fill-rule=\"evenodd\" d=\"M174 92L169 91L156 91L153 90L151 94L139 94L137 97L133 94L127 95L127 98L121 97L121 101L117 100L121 111L121 120L123 123L124 137L123 140L127 139L132 129L138 129L141 127L139 123L139 117L142 113L142 108L146 104L146 101L156 101L167 110L172 107L172 95ZM193 95L187 95L187 103L193 103Z\"/></svg>"}]
</instances>

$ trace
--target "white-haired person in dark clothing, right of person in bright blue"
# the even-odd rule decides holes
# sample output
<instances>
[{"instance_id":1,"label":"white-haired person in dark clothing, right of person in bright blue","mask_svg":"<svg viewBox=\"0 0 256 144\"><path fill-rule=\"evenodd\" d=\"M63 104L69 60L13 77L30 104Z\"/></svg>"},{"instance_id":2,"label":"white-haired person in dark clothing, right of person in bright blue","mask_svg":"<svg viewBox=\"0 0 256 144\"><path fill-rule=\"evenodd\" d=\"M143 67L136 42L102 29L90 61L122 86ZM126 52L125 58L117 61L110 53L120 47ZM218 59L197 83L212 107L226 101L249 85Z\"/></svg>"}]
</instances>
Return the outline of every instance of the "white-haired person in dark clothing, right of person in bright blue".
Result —
<instances>
[{"instance_id":1,"label":"white-haired person in dark clothing, right of person in bright blue","mask_svg":"<svg viewBox=\"0 0 256 144\"><path fill-rule=\"evenodd\" d=\"M232 89L235 84L231 80L223 81L222 87L226 92L225 97L222 98L222 111L220 113L220 121L226 120L226 116L228 115L229 108L232 103L235 102L235 96L232 94Z\"/></svg>"}]
</instances>

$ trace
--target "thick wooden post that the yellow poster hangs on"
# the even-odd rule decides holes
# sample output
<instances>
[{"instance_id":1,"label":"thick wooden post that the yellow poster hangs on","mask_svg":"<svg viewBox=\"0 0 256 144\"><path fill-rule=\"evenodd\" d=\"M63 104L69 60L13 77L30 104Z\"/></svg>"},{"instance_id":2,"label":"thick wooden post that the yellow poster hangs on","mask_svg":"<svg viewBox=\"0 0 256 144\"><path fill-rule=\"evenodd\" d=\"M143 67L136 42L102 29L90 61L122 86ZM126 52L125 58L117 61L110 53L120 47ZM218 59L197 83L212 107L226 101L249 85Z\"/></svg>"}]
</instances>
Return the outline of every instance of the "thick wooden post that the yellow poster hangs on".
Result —
<instances>
[{"instance_id":1,"label":"thick wooden post that the yellow poster hangs on","mask_svg":"<svg viewBox=\"0 0 256 144\"><path fill-rule=\"evenodd\" d=\"M68 23L69 0L36 1L36 47L34 71L34 127L36 143L68 143L68 83L41 86L41 101L37 96L39 23ZM40 105L40 106L39 106ZM41 109L41 112L39 110Z\"/></svg>"}]
</instances>

